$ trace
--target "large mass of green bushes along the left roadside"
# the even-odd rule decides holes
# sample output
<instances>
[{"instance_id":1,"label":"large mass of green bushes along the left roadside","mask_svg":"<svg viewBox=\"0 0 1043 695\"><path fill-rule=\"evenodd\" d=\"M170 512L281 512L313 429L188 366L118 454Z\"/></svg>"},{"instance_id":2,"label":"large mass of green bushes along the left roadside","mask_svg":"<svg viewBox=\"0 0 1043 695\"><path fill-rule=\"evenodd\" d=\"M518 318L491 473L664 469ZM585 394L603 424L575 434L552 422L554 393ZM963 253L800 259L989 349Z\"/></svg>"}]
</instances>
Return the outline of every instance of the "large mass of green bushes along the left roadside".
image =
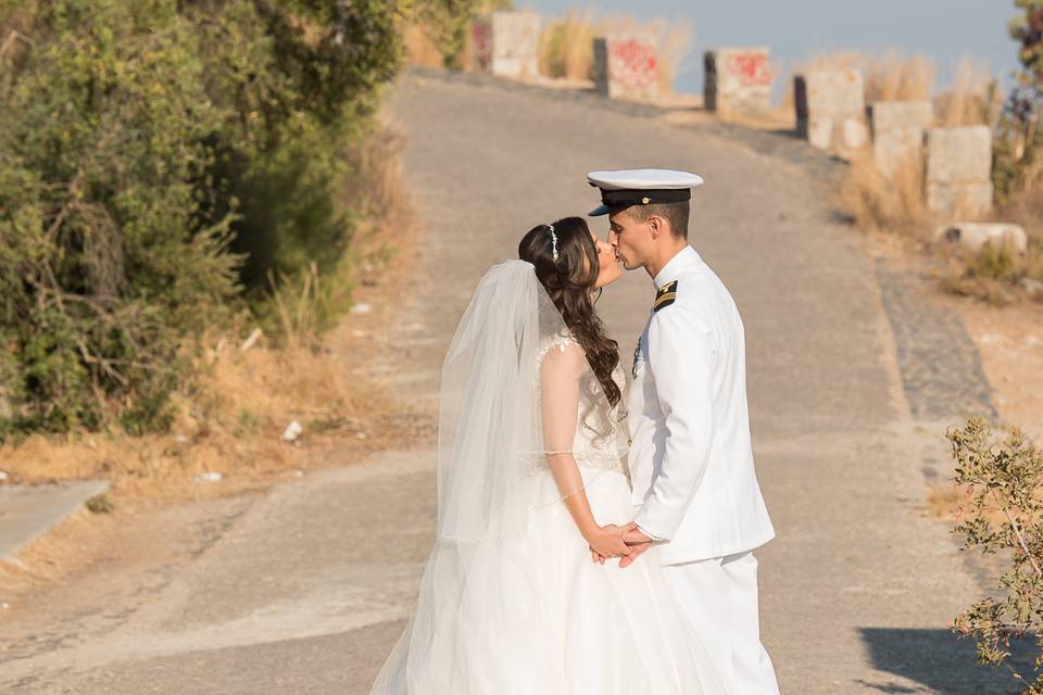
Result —
<instances>
[{"instance_id":1,"label":"large mass of green bushes along the left roadside","mask_svg":"<svg viewBox=\"0 0 1043 695\"><path fill-rule=\"evenodd\" d=\"M398 26L462 7L0 0L0 438L165 427L186 344L340 262Z\"/></svg>"}]
</instances>

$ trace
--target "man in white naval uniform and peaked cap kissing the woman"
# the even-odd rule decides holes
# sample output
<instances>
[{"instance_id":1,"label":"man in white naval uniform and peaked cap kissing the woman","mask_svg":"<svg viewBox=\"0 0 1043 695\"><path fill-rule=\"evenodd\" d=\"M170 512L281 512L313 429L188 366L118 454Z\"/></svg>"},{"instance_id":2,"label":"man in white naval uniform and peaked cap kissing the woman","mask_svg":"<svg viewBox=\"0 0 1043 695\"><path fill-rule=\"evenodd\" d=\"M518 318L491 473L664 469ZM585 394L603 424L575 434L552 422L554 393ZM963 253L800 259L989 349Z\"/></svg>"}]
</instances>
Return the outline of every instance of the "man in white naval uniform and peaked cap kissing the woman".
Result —
<instances>
[{"instance_id":1,"label":"man in white naval uniform and peaked cap kissing the woman","mask_svg":"<svg viewBox=\"0 0 1043 695\"><path fill-rule=\"evenodd\" d=\"M779 692L761 644L757 560L775 536L757 485L746 409L742 319L720 279L688 245L694 174L591 172L608 241L644 268L655 300L633 357L630 480L639 506L625 540L652 543L689 619L734 695Z\"/></svg>"}]
</instances>

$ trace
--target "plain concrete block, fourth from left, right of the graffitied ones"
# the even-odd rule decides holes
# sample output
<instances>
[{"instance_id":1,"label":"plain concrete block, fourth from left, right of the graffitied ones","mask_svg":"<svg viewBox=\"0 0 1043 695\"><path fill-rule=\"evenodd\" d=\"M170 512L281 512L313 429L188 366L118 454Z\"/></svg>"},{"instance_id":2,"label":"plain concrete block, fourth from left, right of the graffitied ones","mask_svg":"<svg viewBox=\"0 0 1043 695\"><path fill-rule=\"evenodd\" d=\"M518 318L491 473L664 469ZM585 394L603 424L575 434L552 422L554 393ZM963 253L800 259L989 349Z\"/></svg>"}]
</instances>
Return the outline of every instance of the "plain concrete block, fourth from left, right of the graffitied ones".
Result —
<instances>
[{"instance_id":1,"label":"plain concrete block, fourth from left, right of the graffitied ones","mask_svg":"<svg viewBox=\"0 0 1043 695\"><path fill-rule=\"evenodd\" d=\"M834 154L850 155L865 147L869 131L859 71L810 71L797 75L793 87L801 137Z\"/></svg>"}]
</instances>

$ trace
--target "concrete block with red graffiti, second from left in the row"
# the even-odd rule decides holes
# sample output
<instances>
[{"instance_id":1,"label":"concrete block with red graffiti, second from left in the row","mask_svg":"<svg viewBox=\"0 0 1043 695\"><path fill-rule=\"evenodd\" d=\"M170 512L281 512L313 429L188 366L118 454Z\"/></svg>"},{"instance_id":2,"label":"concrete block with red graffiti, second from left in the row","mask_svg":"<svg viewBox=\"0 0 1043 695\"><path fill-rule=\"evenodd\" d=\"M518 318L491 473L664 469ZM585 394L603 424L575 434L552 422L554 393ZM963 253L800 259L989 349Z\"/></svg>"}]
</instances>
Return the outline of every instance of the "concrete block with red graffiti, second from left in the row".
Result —
<instances>
[{"instance_id":1,"label":"concrete block with red graffiti, second from left in the row","mask_svg":"<svg viewBox=\"0 0 1043 695\"><path fill-rule=\"evenodd\" d=\"M659 55L645 34L594 39L594 86L610 99L654 97L659 92Z\"/></svg>"}]
</instances>

